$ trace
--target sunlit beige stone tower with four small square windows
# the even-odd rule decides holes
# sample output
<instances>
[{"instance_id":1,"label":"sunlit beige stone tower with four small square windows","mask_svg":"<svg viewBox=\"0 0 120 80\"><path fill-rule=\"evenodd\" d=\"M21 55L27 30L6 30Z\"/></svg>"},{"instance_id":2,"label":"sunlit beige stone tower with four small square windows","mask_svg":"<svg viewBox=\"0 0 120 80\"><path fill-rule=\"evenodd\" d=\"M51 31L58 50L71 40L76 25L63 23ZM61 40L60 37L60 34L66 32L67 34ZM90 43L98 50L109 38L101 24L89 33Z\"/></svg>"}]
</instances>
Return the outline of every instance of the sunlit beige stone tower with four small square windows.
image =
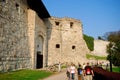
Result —
<instances>
[{"instance_id":1,"label":"sunlit beige stone tower with four small square windows","mask_svg":"<svg viewBox=\"0 0 120 80\"><path fill-rule=\"evenodd\" d=\"M48 65L58 62L83 63L89 52L83 39L82 23L72 18L48 19Z\"/></svg>"}]
</instances>

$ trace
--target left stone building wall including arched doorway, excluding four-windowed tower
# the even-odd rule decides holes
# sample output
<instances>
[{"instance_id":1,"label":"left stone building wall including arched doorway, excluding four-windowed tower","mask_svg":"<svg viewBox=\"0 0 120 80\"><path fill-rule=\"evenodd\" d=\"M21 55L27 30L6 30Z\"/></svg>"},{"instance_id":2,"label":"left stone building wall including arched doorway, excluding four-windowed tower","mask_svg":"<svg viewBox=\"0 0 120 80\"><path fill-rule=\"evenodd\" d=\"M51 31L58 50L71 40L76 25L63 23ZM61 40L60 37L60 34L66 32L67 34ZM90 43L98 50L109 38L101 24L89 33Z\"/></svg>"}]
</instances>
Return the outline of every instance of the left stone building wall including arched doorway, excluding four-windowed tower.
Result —
<instances>
[{"instance_id":1,"label":"left stone building wall including arched doorway, excluding four-windowed tower","mask_svg":"<svg viewBox=\"0 0 120 80\"><path fill-rule=\"evenodd\" d=\"M46 29L27 0L0 0L0 72L45 67Z\"/></svg>"}]
</instances>

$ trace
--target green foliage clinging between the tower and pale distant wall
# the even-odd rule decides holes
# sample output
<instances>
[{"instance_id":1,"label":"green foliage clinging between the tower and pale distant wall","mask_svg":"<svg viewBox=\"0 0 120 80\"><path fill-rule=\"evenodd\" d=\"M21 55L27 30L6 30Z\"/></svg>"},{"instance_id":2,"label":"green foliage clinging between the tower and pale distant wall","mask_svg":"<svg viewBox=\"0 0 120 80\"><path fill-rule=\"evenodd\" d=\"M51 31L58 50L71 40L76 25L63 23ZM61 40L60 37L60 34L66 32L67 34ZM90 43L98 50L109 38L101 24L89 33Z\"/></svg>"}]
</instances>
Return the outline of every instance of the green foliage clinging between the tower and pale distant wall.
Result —
<instances>
[{"instance_id":1,"label":"green foliage clinging between the tower and pale distant wall","mask_svg":"<svg viewBox=\"0 0 120 80\"><path fill-rule=\"evenodd\" d=\"M85 34L84 34L83 38L84 38L84 40L85 40L85 42L86 42L86 44L88 46L88 49L90 51L93 51L94 50L94 38L91 37L91 36L87 36Z\"/></svg>"}]
</instances>

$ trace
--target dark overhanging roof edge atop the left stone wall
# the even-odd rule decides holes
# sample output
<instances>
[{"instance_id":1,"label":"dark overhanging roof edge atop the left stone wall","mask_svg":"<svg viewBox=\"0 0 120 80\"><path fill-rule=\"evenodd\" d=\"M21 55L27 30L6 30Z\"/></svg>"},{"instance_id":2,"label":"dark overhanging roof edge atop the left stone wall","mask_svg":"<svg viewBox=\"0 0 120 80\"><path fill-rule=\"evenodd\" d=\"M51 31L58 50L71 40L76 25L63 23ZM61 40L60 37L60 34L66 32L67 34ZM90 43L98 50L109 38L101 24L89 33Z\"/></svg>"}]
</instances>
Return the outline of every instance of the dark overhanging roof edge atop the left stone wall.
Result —
<instances>
[{"instance_id":1,"label":"dark overhanging roof edge atop the left stone wall","mask_svg":"<svg viewBox=\"0 0 120 80\"><path fill-rule=\"evenodd\" d=\"M28 6L36 11L40 18L49 18L50 14L44 6L42 0L27 0Z\"/></svg>"}]
</instances>

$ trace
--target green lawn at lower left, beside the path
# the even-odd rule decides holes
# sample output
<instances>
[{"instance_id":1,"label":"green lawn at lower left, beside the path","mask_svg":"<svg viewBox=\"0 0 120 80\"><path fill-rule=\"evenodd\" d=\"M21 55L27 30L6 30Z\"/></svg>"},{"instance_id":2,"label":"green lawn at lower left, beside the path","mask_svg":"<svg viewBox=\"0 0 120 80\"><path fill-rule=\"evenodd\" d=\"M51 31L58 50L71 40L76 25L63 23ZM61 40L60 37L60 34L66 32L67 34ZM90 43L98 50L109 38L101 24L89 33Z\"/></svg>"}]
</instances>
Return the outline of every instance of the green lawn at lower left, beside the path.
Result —
<instances>
[{"instance_id":1,"label":"green lawn at lower left, beside the path","mask_svg":"<svg viewBox=\"0 0 120 80\"><path fill-rule=\"evenodd\" d=\"M19 70L8 73L0 73L0 80L40 80L53 74L52 72L39 70Z\"/></svg>"}]
</instances>

